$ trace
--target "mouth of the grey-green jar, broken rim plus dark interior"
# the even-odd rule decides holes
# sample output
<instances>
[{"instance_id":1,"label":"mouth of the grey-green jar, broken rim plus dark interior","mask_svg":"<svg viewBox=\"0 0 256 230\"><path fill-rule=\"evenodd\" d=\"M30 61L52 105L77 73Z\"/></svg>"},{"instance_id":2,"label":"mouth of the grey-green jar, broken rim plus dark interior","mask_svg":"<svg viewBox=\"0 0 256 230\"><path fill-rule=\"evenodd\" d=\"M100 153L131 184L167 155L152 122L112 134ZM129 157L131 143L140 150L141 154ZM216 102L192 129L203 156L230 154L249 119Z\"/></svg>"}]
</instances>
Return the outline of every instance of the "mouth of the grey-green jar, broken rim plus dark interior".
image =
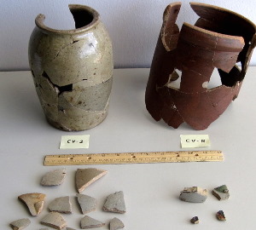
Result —
<instances>
[{"instance_id":1,"label":"mouth of the grey-green jar, broken rim plus dark interior","mask_svg":"<svg viewBox=\"0 0 256 230\"><path fill-rule=\"evenodd\" d=\"M96 26L99 22L99 14L95 9L85 5L70 4L68 5L73 20L75 22L75 29L71 30L57 30L44 25L45 15L38 14L35 23L44 32L52 32L59 34L74 34L90 30L91 27Z\"/></svg>"}]
</instances>

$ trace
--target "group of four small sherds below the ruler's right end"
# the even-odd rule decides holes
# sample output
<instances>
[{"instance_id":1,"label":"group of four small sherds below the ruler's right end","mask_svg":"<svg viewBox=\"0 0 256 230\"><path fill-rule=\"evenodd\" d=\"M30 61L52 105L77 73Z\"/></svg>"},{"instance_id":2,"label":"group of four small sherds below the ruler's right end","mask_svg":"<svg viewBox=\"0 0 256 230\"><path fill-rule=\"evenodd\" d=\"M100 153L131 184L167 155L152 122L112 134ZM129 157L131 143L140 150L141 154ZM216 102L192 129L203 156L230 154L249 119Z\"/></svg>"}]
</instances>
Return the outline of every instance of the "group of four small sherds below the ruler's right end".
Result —
<instances>
[{"instance_id":1,"label":"group of four small sherds below the ruler's right end","mask_svg":"<svg viewBox=\"0 0 256 230\"><path fill-rule=\"evenodd\" d=\"M212 194L218 198L218 200L224 200L230 198L230 192L226 185L222 185L220 187L215 187L212 190ZM203 189L201 187L185 187L183 191L180 193L179 198L186 202L191 203L202 203L205 202L208 196L207 189ZM225 221L226 218L224 216L224 211L219 210L216 214L218 221ZM194 216L191 220L191 223L198 224L199 218L198 216Z\"/></svg>"}]
</instances>

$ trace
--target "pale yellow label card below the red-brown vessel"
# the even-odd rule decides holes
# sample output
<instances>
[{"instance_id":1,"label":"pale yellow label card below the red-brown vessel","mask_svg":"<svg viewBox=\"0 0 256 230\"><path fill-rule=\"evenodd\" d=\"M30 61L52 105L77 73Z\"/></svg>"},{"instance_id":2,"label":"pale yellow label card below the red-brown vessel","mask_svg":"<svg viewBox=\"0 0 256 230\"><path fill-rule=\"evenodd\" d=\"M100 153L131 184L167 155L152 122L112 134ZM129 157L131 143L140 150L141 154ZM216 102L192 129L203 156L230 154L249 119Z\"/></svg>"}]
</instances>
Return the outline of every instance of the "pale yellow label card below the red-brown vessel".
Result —
<instances>
[{"instance_id":1,"label":"pale yellow label card below the red-brown vessel","mask_svg":"<svg viewBox=\"0 0 256 230\"><path fill-rule=\"evenodd\" d=\"M209 135L180 135L181 146L183 147L210 147Z\"/></svg>"}]
</instances>

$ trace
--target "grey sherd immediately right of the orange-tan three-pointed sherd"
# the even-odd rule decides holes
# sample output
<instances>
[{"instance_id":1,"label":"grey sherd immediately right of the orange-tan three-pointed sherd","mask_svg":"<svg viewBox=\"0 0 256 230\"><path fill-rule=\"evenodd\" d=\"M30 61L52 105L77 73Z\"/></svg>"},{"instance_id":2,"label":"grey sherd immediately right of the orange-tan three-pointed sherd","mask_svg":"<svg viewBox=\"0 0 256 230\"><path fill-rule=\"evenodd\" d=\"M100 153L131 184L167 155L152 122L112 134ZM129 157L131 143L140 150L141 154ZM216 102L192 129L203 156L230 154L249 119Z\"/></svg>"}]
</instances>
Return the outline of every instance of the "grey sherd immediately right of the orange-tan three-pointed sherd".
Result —
<instances>
[{"instance_id":1,"label":"grey sherd immediately right of the orange-tan three-pointed sherd","mask_svg":"<svg viewBox=\"0 0 256 230\"><path fill-rule=\"evenodd\" d=\"M72 213L72 204L69 197L55 198L49 206L50 211L57 211L61 213Z\"/></svg>"}]
</instances>

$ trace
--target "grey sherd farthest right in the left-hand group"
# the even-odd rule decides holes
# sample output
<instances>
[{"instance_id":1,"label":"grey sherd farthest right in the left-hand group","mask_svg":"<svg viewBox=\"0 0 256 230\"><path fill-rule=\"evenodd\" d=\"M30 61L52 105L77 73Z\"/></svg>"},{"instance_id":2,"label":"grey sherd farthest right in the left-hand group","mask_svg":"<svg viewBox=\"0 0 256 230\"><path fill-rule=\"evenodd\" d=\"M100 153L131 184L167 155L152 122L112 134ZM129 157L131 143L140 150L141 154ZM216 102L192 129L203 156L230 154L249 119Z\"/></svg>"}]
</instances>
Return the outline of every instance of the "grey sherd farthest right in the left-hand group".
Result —
<instances>
[{"instance_id":1,"label":"grey sherd farthest right in the left-hand group","mask_svg":"<svg viewBox=\"0 0 256 230\"><path fill-rule=\"evenodd\" d=\"M124 193L122 191L119 191L117 193L108 195L108 198L106 199L103 206L103 210L117 213L125 213L126 208Z\"/></svg>"}]
</instances>

